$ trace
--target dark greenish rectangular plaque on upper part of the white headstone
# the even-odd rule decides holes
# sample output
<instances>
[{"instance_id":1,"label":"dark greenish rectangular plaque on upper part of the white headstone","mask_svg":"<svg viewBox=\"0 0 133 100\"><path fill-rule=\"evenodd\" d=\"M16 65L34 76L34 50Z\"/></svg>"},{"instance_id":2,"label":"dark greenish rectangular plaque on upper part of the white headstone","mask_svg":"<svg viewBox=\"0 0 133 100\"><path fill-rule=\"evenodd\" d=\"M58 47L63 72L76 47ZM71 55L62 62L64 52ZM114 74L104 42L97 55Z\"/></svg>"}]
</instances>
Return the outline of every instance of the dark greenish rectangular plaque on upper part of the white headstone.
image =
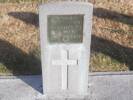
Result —
<instances>
[{"instance_id":1,"label":"dark greenish rectangular plaque on upper part of the white headstone","mask_svg":"<svg viewBox=\"0 0 133 100\"><path fill-rule=\"evenodd\" d=\"M81 43L84 15L49 15L48 40L50 43Z\"/></svg>"}]
</instances>

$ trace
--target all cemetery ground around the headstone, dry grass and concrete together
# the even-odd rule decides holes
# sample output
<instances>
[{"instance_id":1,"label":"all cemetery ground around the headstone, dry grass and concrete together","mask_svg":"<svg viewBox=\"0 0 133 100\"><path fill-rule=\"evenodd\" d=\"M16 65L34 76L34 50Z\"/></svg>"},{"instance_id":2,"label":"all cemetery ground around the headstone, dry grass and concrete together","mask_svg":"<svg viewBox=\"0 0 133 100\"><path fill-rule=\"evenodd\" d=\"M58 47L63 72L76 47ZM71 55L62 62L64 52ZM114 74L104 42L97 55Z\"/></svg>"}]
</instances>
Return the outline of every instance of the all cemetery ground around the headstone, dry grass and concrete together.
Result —
<instances>
[{"instance_id":1,"label":"all cemetery ground around the headstone, dry grass and concrete together","mask_svg":"<svg viewBox=\"0 0 133 100\"><path fill-rule=\"evenodd\" d=\"M133 5L123 1L92 1L93 72L133 69ZM0 73L17 75L0 76L0 100L44 100L42 77L33 75L41 73L38 28L37 3L0 4ZM89 73L86 100L132 100L132 77L132 72Z\"/></svg>"}]
</instances>

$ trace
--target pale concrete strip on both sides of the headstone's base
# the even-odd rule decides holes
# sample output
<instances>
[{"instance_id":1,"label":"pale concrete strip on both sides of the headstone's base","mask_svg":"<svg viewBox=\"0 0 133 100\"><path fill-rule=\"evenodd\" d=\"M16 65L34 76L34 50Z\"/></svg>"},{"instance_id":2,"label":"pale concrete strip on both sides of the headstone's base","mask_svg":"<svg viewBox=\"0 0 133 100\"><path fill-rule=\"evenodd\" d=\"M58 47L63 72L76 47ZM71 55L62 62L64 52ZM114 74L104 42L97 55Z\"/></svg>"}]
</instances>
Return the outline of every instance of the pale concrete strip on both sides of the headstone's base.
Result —
<instances>
[{"instance_id":1,"label":"pale concrete strip on both sides of the headstone's base","mask_svg":"<svg viewBox=\"0 0 133 100\"><path fill-rule=\"evenodd\" d=\"M91 75L87 100L132 100L132 77L133 74L122 73ZM41 76L0 78L0 100L44 100L43 98Z\"/></svg>"}]
</instances>

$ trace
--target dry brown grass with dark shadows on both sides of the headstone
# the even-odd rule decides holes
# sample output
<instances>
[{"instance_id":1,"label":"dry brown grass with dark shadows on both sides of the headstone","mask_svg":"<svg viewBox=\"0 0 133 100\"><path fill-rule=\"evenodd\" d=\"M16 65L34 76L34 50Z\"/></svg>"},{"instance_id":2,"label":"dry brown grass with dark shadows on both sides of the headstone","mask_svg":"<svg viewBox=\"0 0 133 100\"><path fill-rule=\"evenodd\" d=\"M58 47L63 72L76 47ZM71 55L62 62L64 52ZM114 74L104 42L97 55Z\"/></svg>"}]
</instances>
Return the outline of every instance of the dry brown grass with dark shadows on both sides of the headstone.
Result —
<instances>
[{"instance_id":1,"label":"dry brown grass with dark shadows on both sides of the headstone","mask_svg":"<svg viewBox=\"0 0 133 100\"><path fill-rule=\"evenodd\" d=\"M96 0L90 70L133 70L132 0ZM0 73L41 73L38 3L0 4Z\"/></svg>"}]
</instances>

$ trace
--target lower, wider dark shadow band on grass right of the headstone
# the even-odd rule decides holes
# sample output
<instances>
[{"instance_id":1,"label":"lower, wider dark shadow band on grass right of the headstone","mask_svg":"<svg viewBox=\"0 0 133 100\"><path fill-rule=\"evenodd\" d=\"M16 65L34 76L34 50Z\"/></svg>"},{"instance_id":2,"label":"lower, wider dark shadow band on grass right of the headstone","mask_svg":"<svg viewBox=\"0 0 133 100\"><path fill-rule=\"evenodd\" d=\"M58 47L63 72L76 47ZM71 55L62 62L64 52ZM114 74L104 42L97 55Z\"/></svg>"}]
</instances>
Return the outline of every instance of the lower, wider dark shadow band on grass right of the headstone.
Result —
<instances>
[{"instance_id":1,"label":"lower, wider dark shadow band on grass right of the headstone","mask_svg":"<svg viewBox=\"0 0 133 100\"><path fill-rule=\"evenodd\" d=\"M92 35L92 52L100 52L124 63L133 71L133 48L127 48L113 41Z\"/></svg>"}]
</instances>

